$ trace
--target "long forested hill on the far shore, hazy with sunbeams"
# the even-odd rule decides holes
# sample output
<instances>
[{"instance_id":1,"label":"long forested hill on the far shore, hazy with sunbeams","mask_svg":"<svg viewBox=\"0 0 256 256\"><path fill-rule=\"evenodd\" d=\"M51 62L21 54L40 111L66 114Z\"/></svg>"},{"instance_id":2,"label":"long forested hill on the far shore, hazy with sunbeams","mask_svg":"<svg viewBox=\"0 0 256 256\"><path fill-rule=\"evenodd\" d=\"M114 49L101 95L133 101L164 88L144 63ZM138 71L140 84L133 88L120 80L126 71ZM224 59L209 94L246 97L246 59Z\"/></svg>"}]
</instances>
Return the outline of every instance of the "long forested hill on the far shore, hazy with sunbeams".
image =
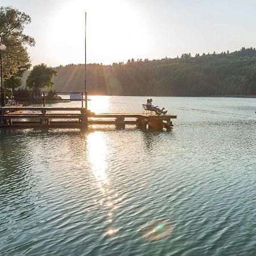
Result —
<instances>
[{"instance_id":1,"label":"long forested hill on the far shore, hazy with sunbeams","mask_svg":"<svg viewBox=\"0 0 256 256\"><path fill-rule=\"evenodd\" d=\"M57 92L84 90L84 65L55 68ZM255 48L236 52L183 54L175 59L129 60L113 65L88 64L89 94L127 96L253 95Z\"/></svg>"}]
</instances>

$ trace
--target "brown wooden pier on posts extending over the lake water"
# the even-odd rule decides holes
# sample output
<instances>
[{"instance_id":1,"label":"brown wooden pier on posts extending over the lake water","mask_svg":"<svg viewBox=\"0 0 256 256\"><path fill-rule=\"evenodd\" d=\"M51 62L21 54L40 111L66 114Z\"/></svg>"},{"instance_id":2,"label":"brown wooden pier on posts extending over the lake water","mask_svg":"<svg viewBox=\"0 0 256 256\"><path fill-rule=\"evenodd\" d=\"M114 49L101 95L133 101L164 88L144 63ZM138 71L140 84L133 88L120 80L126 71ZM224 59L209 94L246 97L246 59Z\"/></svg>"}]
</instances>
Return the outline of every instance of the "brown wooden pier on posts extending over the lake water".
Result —
<instances>
[{"instance_id":1,"label":"brown wooden pier on posts extending over the lake water","mask_svg":"<svg viewBox=\"0 0 256 256\"><path fill-rule=\"evenodd\" d=\"M85 108L0 107L0 127L22 128L81 128L89 125L115 125L125 129L136 125L140 129L172 129L176 115L156 114L95 114Z\"/></svg>"}]
</instances>

